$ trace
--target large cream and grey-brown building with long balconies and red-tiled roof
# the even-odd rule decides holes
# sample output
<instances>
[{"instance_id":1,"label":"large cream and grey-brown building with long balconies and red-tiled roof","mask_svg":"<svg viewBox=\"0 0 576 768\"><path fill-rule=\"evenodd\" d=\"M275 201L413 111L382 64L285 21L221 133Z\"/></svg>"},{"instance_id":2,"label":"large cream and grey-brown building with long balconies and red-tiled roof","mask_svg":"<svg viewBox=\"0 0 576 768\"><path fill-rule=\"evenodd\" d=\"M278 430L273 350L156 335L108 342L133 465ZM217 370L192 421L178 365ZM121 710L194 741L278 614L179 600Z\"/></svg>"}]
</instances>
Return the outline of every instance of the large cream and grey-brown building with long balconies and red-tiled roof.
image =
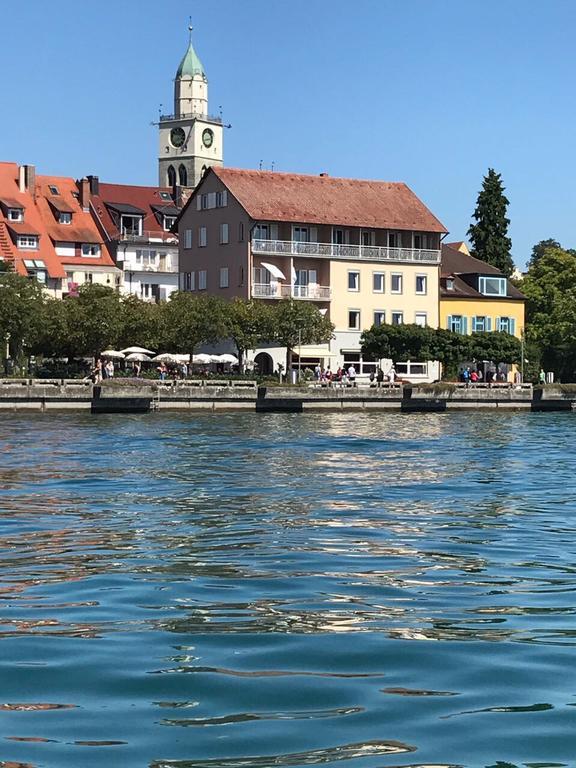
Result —
<instances>
[{"instance_id":1,"label":"large cream and grey-brown building with long balconies and red-tiled roof","mask_svg":"<svg viewBox=\"0 0 576 768\"><path fill-rule=\"evenodd\" d=\"M438 327L440 243L447 230L402 183L212 167L178 220L183 288L223 298L311 301L335 325L326 348L296 350L301 365L379 361L362 331L383 323ZM260 370L284 350L256 350ZM298 364L297 362L297 364ZM438 376L415 361L414 380Z\"/></svg>"}]
</instances>

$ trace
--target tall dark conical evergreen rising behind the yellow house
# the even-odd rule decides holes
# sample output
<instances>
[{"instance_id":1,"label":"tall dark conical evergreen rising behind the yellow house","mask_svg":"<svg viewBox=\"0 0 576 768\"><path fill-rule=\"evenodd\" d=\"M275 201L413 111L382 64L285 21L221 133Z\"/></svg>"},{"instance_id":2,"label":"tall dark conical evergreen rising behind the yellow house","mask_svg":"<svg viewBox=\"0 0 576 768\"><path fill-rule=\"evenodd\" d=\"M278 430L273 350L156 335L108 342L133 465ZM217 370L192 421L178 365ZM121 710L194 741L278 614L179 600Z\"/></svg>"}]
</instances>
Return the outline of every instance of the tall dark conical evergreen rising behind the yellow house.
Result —
<instances>
[{"instance_id":1,"label":"tall dark conical evergreen rising behind the yellow house","mask_svg":"<svg viewBox=\"0 0 576 768\"><path fill-rule=\"evenodd\" d=\"M470 225L468 236L472 243L472 255L509 277L514 271L514 263L510 256L512 241L508 237L508 205L501 175L489 168L472 217L476 223Z\"/></svg>"}]
</instances>

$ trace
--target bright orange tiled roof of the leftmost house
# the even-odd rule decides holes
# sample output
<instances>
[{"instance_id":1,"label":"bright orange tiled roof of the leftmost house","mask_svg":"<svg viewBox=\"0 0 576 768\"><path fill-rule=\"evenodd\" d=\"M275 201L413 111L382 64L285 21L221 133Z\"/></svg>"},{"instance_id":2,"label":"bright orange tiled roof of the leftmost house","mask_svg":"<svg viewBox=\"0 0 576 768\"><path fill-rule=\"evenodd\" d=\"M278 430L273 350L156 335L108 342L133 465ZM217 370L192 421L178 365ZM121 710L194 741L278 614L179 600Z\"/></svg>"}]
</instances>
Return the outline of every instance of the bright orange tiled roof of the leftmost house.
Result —
<instances>
[{"instance_id":1,"label":"bright orange tiled roof of the leftmost house","mask_svg":"<svg viewBox=\"0 0 576 768\"><path fill-rule=\"evenodd\" d=\"M6 227L10 226L13 231L16 225L22 226L20 222L9 222L4 217L4 212L0 208L0 245L1 255L10 260L7 256L8 251L11 252L11 261L14 265L14 269L21 275L27 275L28 271L24 266L24 259L39 259L46 265L48 275L52 278L66 277L66 272L60 263L60 259L56 256L54 245L46 232L44 222L38 207L34 204L34 199L30 192L20 192L18 186L18 166L16 163L0 163L0 199L10 200L16 203L18 207L25 209L24 214L24 228L27 230L22 234L31 234L30 230L33 229L39 233L38 250L21 250L18 249L14 243L12 237L8 235L9 242L6 242L6 238L2 237L2 233L6 233ZM16 207L16 206L15 206Z\"/></svg>"}]
</instances>

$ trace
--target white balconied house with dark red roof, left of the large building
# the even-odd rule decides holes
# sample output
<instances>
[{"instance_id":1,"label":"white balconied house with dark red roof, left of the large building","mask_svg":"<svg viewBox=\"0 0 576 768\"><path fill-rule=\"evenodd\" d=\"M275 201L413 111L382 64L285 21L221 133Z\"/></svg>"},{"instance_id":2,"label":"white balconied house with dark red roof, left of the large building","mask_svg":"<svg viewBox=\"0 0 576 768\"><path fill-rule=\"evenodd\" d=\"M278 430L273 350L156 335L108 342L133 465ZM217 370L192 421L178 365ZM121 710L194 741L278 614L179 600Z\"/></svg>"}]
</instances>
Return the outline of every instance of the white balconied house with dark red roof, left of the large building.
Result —
<instances>
[{"instance_id":1,"label":"white balconied house with dark red roof, left of the large building","mask_svg":"<svg viewBox=\"0 0 576 768\"><path fill-rule=\"evenodd\" d=\"M172 232L180 209L165 187L85 182L90 212L122 271L122 293L165 301L178 289L178 237Z\"/></svg>"}]
</instances>

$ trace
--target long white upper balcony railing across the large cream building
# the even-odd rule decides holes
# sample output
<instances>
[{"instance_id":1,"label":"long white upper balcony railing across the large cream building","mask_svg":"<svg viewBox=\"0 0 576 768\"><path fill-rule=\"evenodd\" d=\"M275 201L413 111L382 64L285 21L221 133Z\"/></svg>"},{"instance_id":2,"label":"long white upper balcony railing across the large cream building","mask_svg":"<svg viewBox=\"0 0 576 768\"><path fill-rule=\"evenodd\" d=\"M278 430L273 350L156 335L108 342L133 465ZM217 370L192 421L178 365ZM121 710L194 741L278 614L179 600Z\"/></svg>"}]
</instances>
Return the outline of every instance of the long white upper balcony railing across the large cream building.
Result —
<instances>
[{"instance_id":1,"label":"long white upper balcony railing across the large cream building","mask_svg":"<svg viewBox=\"0 0 576 768\"><path fill-rule=\"evenodd\" d=\"M302 243L298 240L252 240L253 253L274 256L312 256L323 259L366 259L367 261L439 264L440 251L420 248L384 248L377 245Z\"/></svg>"}]
</instances>

